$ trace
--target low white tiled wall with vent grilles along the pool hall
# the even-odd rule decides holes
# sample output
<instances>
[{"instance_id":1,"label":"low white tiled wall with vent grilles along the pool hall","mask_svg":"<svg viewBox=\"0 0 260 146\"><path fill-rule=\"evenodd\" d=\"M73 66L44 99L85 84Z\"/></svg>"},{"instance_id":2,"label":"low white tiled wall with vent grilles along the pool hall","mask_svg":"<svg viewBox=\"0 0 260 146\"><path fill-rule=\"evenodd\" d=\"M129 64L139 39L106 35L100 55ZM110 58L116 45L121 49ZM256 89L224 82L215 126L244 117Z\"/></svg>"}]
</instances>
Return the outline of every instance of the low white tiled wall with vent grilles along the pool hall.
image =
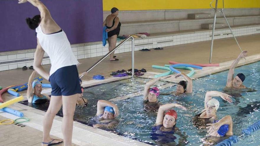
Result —
<instances>
[{"instance_id":1,"label":"low white tiled wall with vent grilles along the pool hall","mask_svg":"<svg viewBox=\"0 0 260 146\"><path fill-rule=\"evenodd\" d=\"M251 35L260 33L259 31L256 31L256 29L260 29L260 26L258 27L248 27L248 28L237 28L232 29L235 36L242 36L242 35ZM223 35L225 33L230 33L230 30L217 30L215 31L215 35L220 34L219 36L215 36L215 39L222 39L222 38L228 38L233 37L232 34L229 35ZM180 45L180 44L186 44L191 42L200 42L200 41L206 41L211 40L210 35L212 35L212 31L209 32L197 32L194 34L186 34L186 35L174 35L174 36L168 36L168 37L160 37L157 38L145 38L142 40L135 40L135 45L138 45L137 47L134 47L135 51L142 50L142 49L152 49L156 47L167 47L167 46L173 46L173 45ZM171 41L171 42L165 42L160 43L162 41ZM116 45L118 45L120 42L117 42ZM146 44L146 43L152 43L151 45L141 45L140 44ZM131 51L131 41L125 42L119 49L115 50L115 54L117 53L124 53L124 52L130 52ZM91 57L97 57L97 56L103 56L108 53L108 44L103 47L102 44L98 45L89 45L89 46L81 46L81 47L73 47L71 48L75 57L77 59L83 59L83 58L91 58ZM46 53L44 56L48 56ZM20 53L20 54L14 54L14 55L3 55L0 56L0 63L4 61L12 61L12 60L20 60L20 59L28 59L33 58L34 53ZM43 59L42 64L50 64L50 59L46 58ZM0 71L2 70L10 70L10 69L16 69L16 68L22 68L23 66L31 66L33 65L33 61L26 61L26 62L18 62L18 63L9 63L9 64L1 64L0 65Z\"/></svg>"}]
</instances>

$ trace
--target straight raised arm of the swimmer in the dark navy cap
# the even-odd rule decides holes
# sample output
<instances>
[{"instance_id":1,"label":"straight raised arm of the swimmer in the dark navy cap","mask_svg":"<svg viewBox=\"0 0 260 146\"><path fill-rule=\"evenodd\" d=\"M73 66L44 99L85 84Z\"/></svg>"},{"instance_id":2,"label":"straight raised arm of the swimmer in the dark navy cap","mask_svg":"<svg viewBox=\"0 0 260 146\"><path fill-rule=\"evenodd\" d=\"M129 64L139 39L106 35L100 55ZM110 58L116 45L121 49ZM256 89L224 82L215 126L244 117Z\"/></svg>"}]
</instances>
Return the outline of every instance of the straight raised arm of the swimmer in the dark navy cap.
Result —
<instances>
[{"instance_id":1,"label":"straight raised arm of the swimmer in the dark navy cap","mask_svg":"<svg viewBox=\"0 0 260 146\"><path fill-rule=\"evenodd\" d=\"M241 58L245 58L247 56L247 51L243 51L242 53L240 53L240 55L238 56L237 59L235 59L235 61L232 63L232 65L230 66L230 69L228 71L228 79L227 79L227 87L233 87L232 81L234 78L234 70L235 67L238 65L238 62Z\"/></svg>"}]
</instances>

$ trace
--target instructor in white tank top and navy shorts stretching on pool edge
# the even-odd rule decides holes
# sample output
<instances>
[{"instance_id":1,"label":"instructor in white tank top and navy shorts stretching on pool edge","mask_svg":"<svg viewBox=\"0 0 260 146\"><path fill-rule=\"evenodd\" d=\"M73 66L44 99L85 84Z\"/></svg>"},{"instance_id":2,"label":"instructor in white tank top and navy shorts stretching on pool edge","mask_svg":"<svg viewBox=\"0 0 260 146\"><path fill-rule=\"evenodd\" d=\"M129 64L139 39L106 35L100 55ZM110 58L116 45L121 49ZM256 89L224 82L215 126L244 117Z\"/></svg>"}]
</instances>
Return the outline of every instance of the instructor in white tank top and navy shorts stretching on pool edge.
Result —
<instances>
[{"instance_id":1,"label":"instructor in white tank top and navy shorts stretching on pool edge","mask_svg":"<svg viewBox=\"0 0 260 146\"><path fill-rule=\"evenodd\" d=\"M71 146L73 116L81 88L75 58L65 32L52 19L45 5L38 0L18 0L19 4L30 2L37 7L40 15L27 18L28 26L37 32L37 48L34 56L34 69L51 82L51 101L43 120L42 146L61 143L52 139L50 131L53 119L63 105L62 134L64 145ZM43 55L47 53L51 60L50 73L41 66Z\"/></svg>"}]
</instances>

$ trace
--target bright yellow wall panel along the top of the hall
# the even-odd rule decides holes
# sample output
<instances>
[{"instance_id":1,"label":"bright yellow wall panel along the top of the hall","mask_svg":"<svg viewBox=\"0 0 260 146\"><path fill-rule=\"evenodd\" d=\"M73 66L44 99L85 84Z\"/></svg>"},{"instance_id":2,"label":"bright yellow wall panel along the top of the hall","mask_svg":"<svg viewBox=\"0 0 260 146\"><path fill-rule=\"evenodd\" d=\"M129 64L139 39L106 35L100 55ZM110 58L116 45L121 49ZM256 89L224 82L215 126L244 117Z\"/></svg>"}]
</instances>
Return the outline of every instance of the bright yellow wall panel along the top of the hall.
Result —
<instances>
[{"instance_id":1,"label":"bright yellow wall panel along the top of the hall","mask_svg":"<svg viewBox=\"0 0 260 146\"><path fill-rule=\"evenodd\" d=\"M103 0L103 10L209 9L211 0ZM260 8L260 0L224 0L225 8ZM215 2L213 4L215 7ZM219 0L218 7L222 7Z\"/></svg>"}]
</instances>

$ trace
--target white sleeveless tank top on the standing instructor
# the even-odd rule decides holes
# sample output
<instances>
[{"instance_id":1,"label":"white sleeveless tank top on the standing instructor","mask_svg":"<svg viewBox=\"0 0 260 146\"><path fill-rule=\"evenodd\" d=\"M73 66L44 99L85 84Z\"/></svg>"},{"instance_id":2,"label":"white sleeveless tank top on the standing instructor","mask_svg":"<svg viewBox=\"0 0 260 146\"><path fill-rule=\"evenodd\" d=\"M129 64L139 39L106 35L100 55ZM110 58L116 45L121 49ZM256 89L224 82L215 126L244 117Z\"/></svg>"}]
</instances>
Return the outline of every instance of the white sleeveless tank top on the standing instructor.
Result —
<instances>
[{"instance_id":1,"label":"white sleeveless tank top on the standing instructor","mask_svg":"<svg viewBox=\"0 0 260 146\"><path fill-rule=\"evenodd\" d=\"M46 35L39 25L36 28L36 32L40 45L51 60L50 76L59 68L79 63L71 50L69 40L63 30L62 32Z\"/></svg>"}]
</instances>

